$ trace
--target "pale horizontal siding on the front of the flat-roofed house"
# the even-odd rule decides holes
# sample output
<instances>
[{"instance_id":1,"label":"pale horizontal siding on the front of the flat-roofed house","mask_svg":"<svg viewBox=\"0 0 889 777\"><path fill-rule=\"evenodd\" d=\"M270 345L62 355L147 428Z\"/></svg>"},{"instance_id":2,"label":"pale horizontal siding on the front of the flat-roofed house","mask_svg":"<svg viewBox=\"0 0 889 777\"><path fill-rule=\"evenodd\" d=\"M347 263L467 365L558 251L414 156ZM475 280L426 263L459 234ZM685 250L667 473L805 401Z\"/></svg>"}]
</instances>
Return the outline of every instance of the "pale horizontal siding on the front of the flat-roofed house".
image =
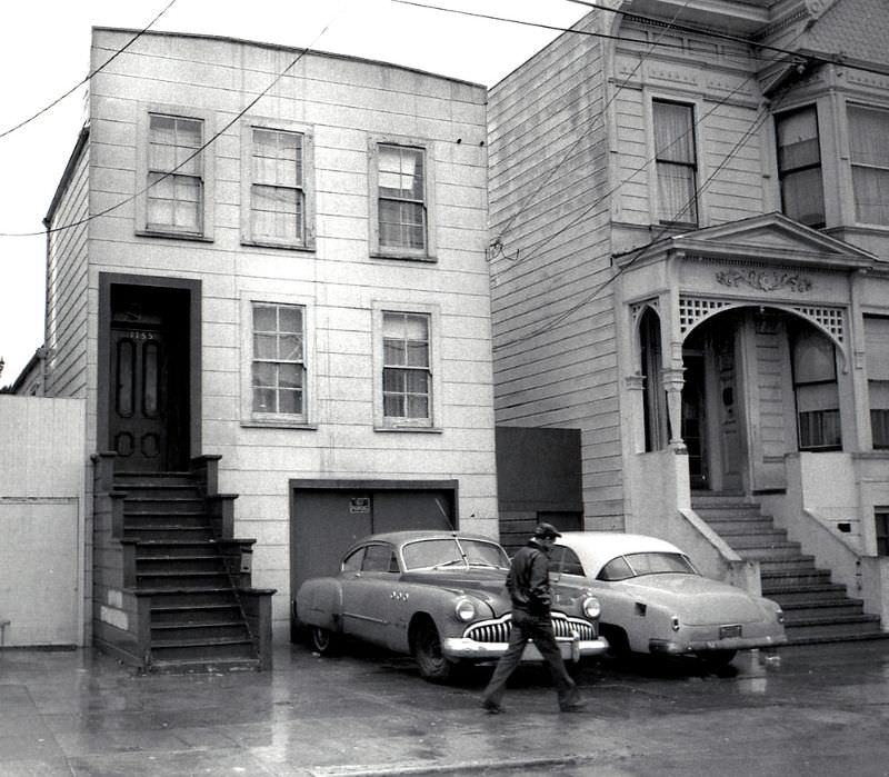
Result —
<instances>
[{"instance_id":1,"label":"pale horizontal siding on the front of the flat-roofed house","mask_svg":"<svg viewBox=\"0 0 889 777\"><path fill-rule=\"evenodd\" d=\"M93 63L130 37L97 30ZM196 107L208 117L208 136L221 131L206 152L214 166L209 240L137 235L137 203L127 202L93 226L90 298L99 271L201 279L203 452L222 455L220 487L240 495L236 532L259 539L253 579L279 591L279 635L289 614L292 478L458 479L461 526L497 534L486 90L382 63L303 56L246 119L297 122L312 133L317 250L242 245L242 122L226 126L298 53L150 33L94 77L91 89L93 208L133 193L147 106L178 107L180 114ZM369 148L382 135L428 143L433 262L369 256ZM259 427L244 414L251 301L306 307L312 392L306 428ZM434 310L432 431L374 429L374 306ZM90 315L94 350L94 302Z\"/></svg>"}]
</instances>

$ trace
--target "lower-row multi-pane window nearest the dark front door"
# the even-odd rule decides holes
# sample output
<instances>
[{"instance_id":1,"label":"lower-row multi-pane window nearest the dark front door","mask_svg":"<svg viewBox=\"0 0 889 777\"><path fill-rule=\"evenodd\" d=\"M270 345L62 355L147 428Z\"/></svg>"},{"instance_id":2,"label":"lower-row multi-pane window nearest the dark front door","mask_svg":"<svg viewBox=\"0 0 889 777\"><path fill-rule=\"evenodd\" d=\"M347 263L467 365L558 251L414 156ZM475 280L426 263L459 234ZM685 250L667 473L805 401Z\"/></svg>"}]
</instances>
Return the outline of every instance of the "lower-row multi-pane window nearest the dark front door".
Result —
<instances>
[{"instance_id":1,"label":"lower-row multi-pane window nearest the dark front door","mask_svg":"<svg viewBox=\"0 0 889 777\"><path fill-rule=\"evenodd\" d=\"M306 316L297 305L253 302L251 363L254 417L306 415Z\"/></svg>"}]
</instances>

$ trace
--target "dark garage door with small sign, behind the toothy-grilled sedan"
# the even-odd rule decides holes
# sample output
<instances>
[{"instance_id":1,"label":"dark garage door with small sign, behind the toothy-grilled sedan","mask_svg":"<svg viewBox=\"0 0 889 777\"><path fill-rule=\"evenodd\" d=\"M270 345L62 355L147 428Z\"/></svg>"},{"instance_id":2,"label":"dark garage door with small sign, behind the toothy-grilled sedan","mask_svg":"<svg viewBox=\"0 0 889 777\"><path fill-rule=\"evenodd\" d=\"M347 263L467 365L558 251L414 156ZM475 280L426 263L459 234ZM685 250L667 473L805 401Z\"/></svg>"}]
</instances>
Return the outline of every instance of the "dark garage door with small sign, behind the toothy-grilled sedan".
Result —
<instances>
[{"instance_id":1,"label":"dark garage door with small sign, behind the toothy-grilled sedan","mask_svg":"<svg viewBox=\"0 0 889 777\"><path fill-rule=\"evenodd\" d=\"M450 481L421 488L294 486L290 517L291 602L308 578L336 575L342 555L361 537L401 529L455 528L456 497L457 486Z\"/></svg>"}]
</instances>

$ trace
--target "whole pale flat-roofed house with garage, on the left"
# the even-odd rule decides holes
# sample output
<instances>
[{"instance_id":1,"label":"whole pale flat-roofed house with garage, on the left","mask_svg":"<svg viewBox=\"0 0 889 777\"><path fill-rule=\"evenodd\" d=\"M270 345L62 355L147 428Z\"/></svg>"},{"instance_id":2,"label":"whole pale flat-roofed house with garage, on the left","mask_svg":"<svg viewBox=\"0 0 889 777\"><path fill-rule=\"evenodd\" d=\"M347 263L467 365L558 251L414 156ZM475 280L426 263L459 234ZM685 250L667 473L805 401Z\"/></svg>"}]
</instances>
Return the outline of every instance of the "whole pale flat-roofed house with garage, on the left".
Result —
<instances>
[{"instance_id":1,"label":"whole pale flat-roofed house with garage, on the left","mask_svg":"<svg viewBox=\"0 0 889 777\"><path fill-rule=\"evenodd\" d=\"M43 394L86 402L96 641L146 664L203 564L159 512L206 511L283 636L352 539L496 535L497 487L485 88L191 34L104 64L132 37L93 31L46 220Z\"/></svg>"}]
</instances>

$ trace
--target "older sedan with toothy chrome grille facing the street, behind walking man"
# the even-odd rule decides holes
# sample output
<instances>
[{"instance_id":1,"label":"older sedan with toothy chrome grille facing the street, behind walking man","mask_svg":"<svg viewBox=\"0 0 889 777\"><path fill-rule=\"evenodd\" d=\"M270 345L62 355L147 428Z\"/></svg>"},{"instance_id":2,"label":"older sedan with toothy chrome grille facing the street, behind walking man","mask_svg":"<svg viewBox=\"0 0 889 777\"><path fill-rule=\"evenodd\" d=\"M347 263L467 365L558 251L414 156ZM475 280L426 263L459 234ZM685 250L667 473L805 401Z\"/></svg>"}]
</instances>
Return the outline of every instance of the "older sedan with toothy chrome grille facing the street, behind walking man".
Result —
<instances>
[{"instance_id":1,"label":"older sedan with toothy chrome grille facing the street, behind walking man","mask_svg":"<svg viewBox=\"0 0 889 777\"><path fill-rule=\"evenodd\" d=\"M488 537L458 531L394 531L353 545L336 577L297 591L297 618L316 650L354 637L412 655L422 677L442 683L460 663L499 658L510 632L509 558ZM562 656L600 656L599 602L585 581L555 591L552 625ZM526 660L540 660L529 645Z\"/></svg>"}]
</instances>

